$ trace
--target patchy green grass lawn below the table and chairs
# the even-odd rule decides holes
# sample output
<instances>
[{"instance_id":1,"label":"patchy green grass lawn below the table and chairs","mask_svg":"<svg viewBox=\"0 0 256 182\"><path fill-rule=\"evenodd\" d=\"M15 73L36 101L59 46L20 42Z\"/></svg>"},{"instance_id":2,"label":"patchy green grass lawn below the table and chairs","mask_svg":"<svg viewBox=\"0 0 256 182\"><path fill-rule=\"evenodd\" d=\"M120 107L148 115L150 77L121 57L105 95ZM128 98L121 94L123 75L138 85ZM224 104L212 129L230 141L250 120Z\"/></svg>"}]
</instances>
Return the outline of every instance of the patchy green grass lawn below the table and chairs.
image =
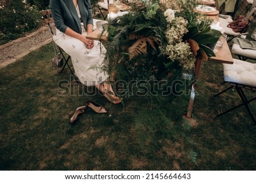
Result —
<instances>
[{"instance_id":1,"label":"patchy green grass lawn below the table and chairs","mask_svg":"<svg viewBox=\"0 0 256 182\"><path fill-rule=\"evenodd\" d=\"M189 96L131 96L110 104L103 96L82 92L68 69L51 67L52 44L0 69L1 170L254 170L256 127L240 107L219 118L212 96L228 85L222 65L204 62L192 120ZM72 94L58 88L67 80ZM66 85L67 86L67 85ZM247 92L248 91L248 92ZM249 96L255 92L246 90ZM93 100L108 110L87 110L75 125L75 109ZM222 94L227 108L240 99ZM256 103L251 103L256 113Z\"/></svg>"}]
</instances>

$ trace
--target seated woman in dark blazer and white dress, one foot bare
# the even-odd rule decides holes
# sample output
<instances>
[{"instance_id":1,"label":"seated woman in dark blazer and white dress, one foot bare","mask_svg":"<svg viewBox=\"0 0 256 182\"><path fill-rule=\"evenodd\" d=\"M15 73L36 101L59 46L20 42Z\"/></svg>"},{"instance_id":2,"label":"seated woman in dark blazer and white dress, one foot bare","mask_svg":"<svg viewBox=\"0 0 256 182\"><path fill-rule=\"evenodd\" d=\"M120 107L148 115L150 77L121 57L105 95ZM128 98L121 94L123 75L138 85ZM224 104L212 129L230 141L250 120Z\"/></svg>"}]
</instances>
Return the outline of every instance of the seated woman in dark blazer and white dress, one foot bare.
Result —
<instances>
[{"instance_id":1,"label":"seated woman in dark blazer and white dress, one foot bare","mask_svg":"<svg viewBox=\"0 0 256 182\"><path fill-rule=\"evenodd\" d=\"M51 0L50 6L57 28L55 42L71 56L75 75L82 84L96 86L114 104L121 102L115 96L112 86L105 82L109 75L91 68L92 65L103 64L106 49L98 41L85 37L93 31L89 0Z\"/></svg>"}]
</instances>

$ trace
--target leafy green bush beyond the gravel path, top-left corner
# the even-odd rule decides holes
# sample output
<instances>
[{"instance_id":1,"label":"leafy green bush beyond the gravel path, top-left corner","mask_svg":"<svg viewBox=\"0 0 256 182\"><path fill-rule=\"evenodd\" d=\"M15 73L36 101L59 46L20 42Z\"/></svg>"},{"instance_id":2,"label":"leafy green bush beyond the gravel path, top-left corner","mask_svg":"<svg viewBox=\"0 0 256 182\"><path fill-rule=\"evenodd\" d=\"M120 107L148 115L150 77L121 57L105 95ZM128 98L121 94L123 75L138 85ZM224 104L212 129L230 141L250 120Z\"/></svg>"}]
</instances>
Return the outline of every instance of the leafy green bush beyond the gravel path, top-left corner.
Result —
<instances>
[{"instance_id":1,"label":"leafy green bush beyond the gravel path, top-left corner","mask_svg":"<svg viewBox=\"0 0 256 182\"><path fill-rule=\"evenodd\" d=\"M20 0L13 0L0 9L0 16L0 44L24 36L42 25L41 14L36 6Z\"/></svg>"}]
</instances>

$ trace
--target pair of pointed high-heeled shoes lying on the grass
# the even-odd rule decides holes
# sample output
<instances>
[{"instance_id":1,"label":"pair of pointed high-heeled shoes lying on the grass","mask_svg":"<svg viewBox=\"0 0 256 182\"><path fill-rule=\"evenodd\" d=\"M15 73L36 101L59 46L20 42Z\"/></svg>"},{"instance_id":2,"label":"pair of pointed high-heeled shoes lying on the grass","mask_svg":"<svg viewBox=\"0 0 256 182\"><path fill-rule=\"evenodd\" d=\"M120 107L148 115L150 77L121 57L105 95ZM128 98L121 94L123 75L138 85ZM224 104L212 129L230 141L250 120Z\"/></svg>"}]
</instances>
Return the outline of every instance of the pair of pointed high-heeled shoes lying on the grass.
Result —
<instances>
[{"instance_id":1,"label":"pair of pointed high-heeled shoes lying on the grass","mask_svg":"<svg viewBox=\"0 0 256 182\"><path fill-rule=\"evenodd\" d=\"M88 107L90 107L90 109L92 109L96 113L107 113L108 112L108 111L106 111L106 109L104 107L96 104L95 102L86 101L84 106L77 107L75 113L72 115L69 122L71 124L75 123L79 119L80 115L82 113L84 113Z\"/></svg>"}]
</instances>

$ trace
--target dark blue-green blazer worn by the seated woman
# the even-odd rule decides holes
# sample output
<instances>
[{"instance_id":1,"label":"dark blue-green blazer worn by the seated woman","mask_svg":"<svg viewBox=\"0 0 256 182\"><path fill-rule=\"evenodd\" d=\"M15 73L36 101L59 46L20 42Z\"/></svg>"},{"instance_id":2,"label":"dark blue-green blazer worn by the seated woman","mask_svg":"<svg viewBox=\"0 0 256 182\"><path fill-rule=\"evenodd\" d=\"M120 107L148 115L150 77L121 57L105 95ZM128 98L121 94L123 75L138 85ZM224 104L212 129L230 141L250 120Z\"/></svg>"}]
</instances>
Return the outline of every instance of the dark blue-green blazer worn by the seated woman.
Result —
<instances>
[{"instance_id":1,"label":"dark blue-green blazer worn by the seated woman","mask_svg":"<svg viewBox=\"0 0 256 182\"><path fill-rule=\"evenodd\" d=\"M79 11L85 30L87 24L93 24L92 7L90 0L77 0ZM72 0L50 0L52 18L57 29L65 33L67 28L71 28L82 34L81 21Z\"/></svg>"}]
</instances>

